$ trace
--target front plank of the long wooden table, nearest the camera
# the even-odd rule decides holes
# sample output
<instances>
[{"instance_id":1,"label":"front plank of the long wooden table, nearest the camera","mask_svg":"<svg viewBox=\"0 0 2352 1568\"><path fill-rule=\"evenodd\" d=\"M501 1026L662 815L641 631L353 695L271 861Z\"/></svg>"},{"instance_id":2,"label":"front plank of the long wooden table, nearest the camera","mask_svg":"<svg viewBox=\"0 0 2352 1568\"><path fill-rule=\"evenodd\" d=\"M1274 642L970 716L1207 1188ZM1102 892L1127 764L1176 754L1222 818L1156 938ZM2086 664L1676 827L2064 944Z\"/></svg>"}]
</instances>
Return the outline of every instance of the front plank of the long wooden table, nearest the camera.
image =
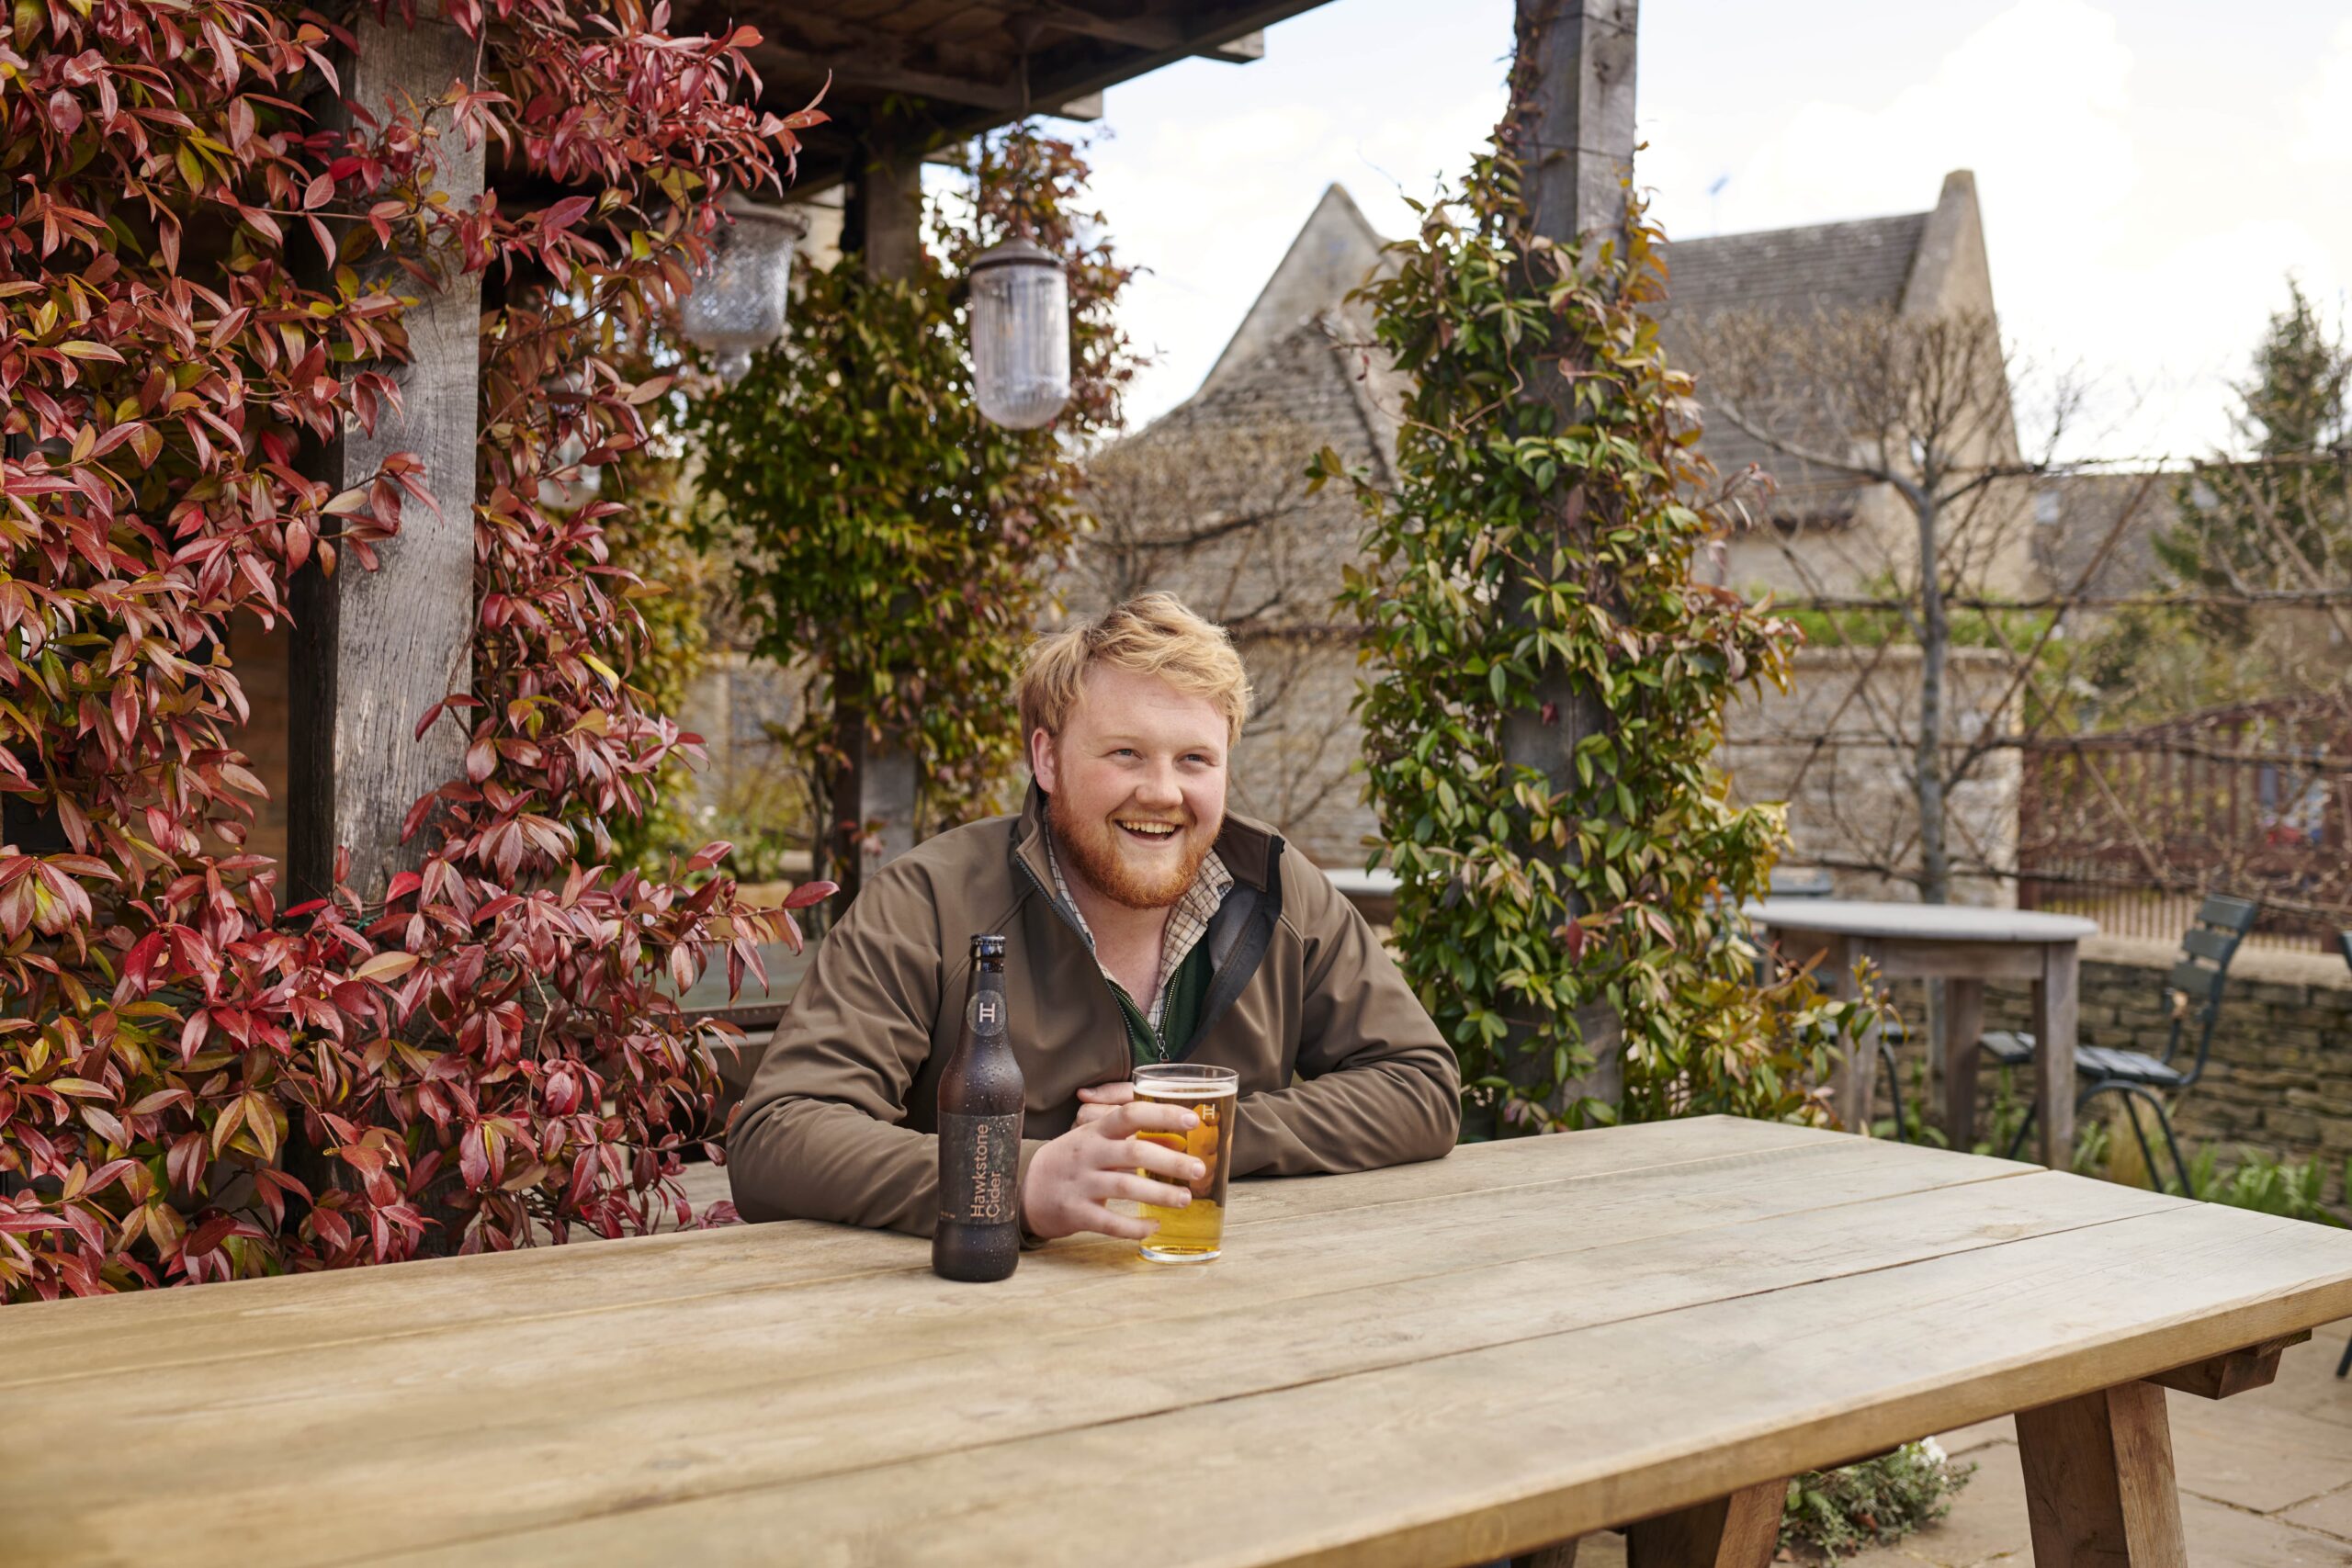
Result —
<instances>
[{"instance_id":1,"label":"front plank of the long wooden table, nearest the camera","mask_svg":"<svg viewBox=\"0 0 2352 1568\"><path fill-rule=\"evenodd\" d=\"M2065 1175L2032 1178L2070 1182ZM2004 1190L2013 1182L2004 1182ZM383 1563L1491 1561L2352 1312L2352 1239L2211 1206ZM1312 1476L1312 1486L1268 1483ZM1152 1483L1174 1474L1181 1483Z\"/></svg>"}]
</instances>

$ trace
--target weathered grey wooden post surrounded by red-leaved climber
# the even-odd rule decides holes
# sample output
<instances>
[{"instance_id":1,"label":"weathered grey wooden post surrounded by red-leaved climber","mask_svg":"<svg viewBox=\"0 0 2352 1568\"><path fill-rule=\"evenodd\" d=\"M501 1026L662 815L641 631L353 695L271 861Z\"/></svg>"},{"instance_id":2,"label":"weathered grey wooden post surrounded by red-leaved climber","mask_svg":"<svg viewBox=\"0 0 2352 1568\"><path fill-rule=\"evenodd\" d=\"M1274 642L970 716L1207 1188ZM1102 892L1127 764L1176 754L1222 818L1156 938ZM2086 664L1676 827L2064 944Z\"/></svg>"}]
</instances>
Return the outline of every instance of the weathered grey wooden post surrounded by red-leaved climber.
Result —
<instances>
[{"instance_id":1,"label":"weathered grey wooden post surrounded by red-leaved climber","mask_svg":"<svg viewBox=\"0 0 2352 1568\"><path fill-rule=\"evenodd\" d=\"M447 21L414 28L358 24L358 56L341 61L346 94L395 113L433 101L473 73L475 47ZM341 122L341 106L325 115ZM482 190L482 148L445 134L437 186L452 207ZM412 280L397 275L402 292ZM287 882L294 898L334 884L336 849L350 849L350 886L383 898L395 870L421 860L400 844L400 823L430 790L461 776L463 717L437 722L423 741L416 719L452 691L473 686L473 477L477 425L477 273L449 268L437 292L402 315L409 362L388 367L400 411L386 409L374 435L346 425L320 454L318 475L334 489L365 484L393 451L414 451L435 508L409 501L400 536L367 571L350 555L334 576L318 564L294 578L294 668L287 759Z\"/></svg>"}]
</instances>

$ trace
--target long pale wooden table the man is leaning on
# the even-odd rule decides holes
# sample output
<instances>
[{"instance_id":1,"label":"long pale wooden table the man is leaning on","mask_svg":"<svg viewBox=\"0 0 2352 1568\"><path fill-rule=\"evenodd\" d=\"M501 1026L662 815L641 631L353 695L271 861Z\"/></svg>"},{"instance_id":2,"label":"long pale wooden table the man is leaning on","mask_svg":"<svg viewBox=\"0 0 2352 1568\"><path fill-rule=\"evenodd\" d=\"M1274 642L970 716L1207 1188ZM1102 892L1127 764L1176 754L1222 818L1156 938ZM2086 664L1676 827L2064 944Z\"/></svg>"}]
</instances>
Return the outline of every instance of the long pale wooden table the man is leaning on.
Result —
<instances>
[{"instance_id":1,"label":"long pale wooden table the man is leaning on","mask_svg":"<svg viewBox=\"0 0 2352 1568\"><path fill-rule=\"evenodd\" d=\"M7 1307L0 1561L1444 1566L1632 1526L1637 1568L1755 1568L1783 1476L2020 1410L2034 1561L2176 1568L2145 1380L2232 1392L2352 1314L2343 1232L1717 1117L1240 1182L1207 1267L927 1265L797 1222Z\"/></svg>"}]
</instances>

